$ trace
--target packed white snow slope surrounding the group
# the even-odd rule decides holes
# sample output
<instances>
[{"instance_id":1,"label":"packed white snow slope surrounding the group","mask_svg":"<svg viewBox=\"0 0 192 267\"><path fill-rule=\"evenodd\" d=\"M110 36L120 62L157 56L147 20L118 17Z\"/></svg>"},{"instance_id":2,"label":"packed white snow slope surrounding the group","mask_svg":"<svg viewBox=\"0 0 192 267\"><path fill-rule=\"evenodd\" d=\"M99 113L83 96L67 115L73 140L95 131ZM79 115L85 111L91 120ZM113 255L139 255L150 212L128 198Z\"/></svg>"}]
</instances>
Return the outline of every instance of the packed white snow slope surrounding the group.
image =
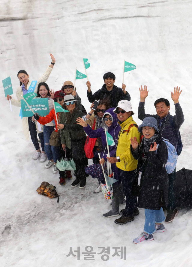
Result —
<instances>
[{"instance_id":1,"label":"packed white snow slope surrounding the group","mask_svg":"<svg viewBox=\"0 0 192 267\"><path fill-rule=\"evenodd\" d=\"M16 97L17 72L25 69L30 79L38 79L51 63L52 53L56 63L47 81L50 88L60 90L65 80L73 81L76 67L85 73L83 57L91 63L87 73L95 92L108 71L115 73L115 84L122 85L125 59L137 67L125 73L125 84L138 124L140 85L148 85L147 113L155 113L154 101L165 97L174 115L171 91L177 85L183 90L179 99L185 117L183 151L177 170L191 169L191 10L190 0L1 0L1 80L11 76ZM86 79L76 80L76 88L89 111ZM12 106L10 112L2 84L0 98L1 266L192 265L192 211L181 210L165 225L166 232L154 235L154 241L134 244L133 238L143 230L144 210L133 222L117 225L117 217L102 216L110 210L110 201L93 193L97 181L89 177L84 189L72 188L73 177L59 186L59 175L32 159L35 149L24 138L20 109ZM59 203L38 195L36 189L43 181L56 186ZM85 260L86 246L96 253L101 251L98 247L110 246L109 260L103 261L101 254L95 254L95 261ZM75 255L80 247L80 260L66 256L70 247ZM112 256L113 247L126 247L126 260Z\"/></svg>"}]
</instances>

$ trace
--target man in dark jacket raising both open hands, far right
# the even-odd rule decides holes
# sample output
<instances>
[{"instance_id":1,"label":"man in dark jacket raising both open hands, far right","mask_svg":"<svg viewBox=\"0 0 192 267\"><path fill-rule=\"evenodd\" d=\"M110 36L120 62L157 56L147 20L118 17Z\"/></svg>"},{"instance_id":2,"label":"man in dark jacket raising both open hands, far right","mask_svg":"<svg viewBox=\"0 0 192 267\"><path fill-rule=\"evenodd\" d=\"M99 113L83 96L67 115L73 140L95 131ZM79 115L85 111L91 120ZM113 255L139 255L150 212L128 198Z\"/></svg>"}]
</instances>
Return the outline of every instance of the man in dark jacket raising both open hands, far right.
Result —
<instances>
[{"instance_id":1,"label":"man in dark jacket raising both open hands, far right","mask_svg":"<svg viewBox=\"0 0 192 267\"><path fill-rule=\"evenodd\" d=\"M171 92L171 98L175 104L175 116L170 115L170 103L165 98L159 98L155 101L154 105L156 108L157 114L151 115L145 113L145 99L148 96L147 86L141 86L140 90L140 103L138 107L138 118L143 121L146 117L154 117L157 119L157 125L160 131L160 134L165 139L168 139L169 142L175 146L177 154L180 155L182 151L182 142L181 136L179 133L179 128L184 122L184 115L182 108L179 104L179 96L182 92L180 91L180 87L178 89L174 88L174 92ZM179 92L180 91L180 92ZM173 192L173 185L176 179L176 169L173 173L168 174L169 176L169 203L167 206L167 217L165 219L166 223L170 223L173 221L175 216L178 214L178 210L175 205L175 196Z\"/></svg>"}]
</instances>

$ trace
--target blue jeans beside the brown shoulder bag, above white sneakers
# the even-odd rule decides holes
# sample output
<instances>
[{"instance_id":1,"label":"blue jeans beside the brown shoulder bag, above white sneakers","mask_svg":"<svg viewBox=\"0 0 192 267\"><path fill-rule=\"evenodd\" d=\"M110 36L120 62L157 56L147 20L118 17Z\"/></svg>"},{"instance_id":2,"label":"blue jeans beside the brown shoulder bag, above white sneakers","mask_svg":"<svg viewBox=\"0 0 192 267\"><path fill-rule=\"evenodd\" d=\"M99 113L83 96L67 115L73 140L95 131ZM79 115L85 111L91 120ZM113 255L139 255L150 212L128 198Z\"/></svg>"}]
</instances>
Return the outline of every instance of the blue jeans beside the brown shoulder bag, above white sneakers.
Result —
<instances>
[{"instance_id":1,"label":"blue jeans beside the brown shoulder bag, above white sneakers","mask_svg":"<svg viewBox=\"0 0 192 267\"><path fill-rule=\"evenodd\" d=\"M49 139L51 133L54 131L54 126L46 126L44 125L43 132L44 132L44 149L47 155L48 160L52 160L57 162L59 158L59 146L50 146Z\"/></svg>"}]
</instances>

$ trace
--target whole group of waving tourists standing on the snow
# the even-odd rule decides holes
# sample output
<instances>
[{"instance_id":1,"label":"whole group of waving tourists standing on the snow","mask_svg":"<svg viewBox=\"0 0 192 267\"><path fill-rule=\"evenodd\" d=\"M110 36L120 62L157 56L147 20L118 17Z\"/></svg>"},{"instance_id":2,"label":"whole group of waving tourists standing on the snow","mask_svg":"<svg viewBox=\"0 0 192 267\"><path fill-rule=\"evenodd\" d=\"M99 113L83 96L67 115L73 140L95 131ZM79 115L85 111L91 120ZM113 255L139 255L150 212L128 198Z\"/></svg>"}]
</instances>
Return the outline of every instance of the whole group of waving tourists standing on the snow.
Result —
<instances>
[{"instance_id":1,"label":"whole group of waving tourists standing on the snow","mask_svg":"<svg viewBox=\"0 0 192 267\"><path fill-rule=\"evenodd\" d=\"M168 149L164 141L169 140L175 147L177 155L181 154L182 141L179 129L184 122L184 115L179 104L179 96L182 90L176 87L171 92L175 116L170 114L170 102L165 98L155 101L156 114L151 115L145 113L145 99L149 91L147 86L144 88L141 86L138 118L143 123L138 126L132 117L134 112L130 103L131 97L125 91L126 85L123 84L122 88L114 85L116 77L113 73L104 74L104 85L94 94L91 91L91 83L89 81L86 83L88 101L92 103L91 110L87 113L71 81L64 82L61 90L55 92L45 83L55 64L53 55L51 58L50 66L38 80L35 88L37 97L49 98L50 112L46 116L39 116L36 113L33 117L22 118L24 134L29 139L30 132L37 151L33 159L41 157L40 161L44 162L47 157L45 169L53 165L53 173L56 174L57 161L66 155L68 159L73 159L76 165L74 171L76 179L71 187L79 185L79 188L84 188L88 177L88 159L84 146L87 136L94 138L93 164L104 165L108 161L117 180L113 183L111 210L103 216L109 218L121 214L115 223L125 224L139 215L138 207L144 208L146 217L144 229L133 242L139 244L153 240L153 233L165 231L163 222L172 222L178 214L173 190L176 168L172 173L167 173ZM9 95L7 100L11 98L11 103L20 107L21 95L27 93L31 81L25 70L20 70L17 76L20 81L20 87L16 92L17 100ZM52 99L69 112L55 114ZM95 100L99 101L96 109L93 103ZM42 131L38 130L37 122L41 124ZM109 157L105 130L113 137L115 143L109 147ZM51 143L52 135L56 137L55 144ZM59 170L59 176L61 185L65 184L66 179L72 178L70 171ZM97 178L99 184L95 193L101 192L101 177ZM119 212L121 204L125 204L125 209ZM167 210L166 217L164 210Z\"/></svg>"}]
</instances>

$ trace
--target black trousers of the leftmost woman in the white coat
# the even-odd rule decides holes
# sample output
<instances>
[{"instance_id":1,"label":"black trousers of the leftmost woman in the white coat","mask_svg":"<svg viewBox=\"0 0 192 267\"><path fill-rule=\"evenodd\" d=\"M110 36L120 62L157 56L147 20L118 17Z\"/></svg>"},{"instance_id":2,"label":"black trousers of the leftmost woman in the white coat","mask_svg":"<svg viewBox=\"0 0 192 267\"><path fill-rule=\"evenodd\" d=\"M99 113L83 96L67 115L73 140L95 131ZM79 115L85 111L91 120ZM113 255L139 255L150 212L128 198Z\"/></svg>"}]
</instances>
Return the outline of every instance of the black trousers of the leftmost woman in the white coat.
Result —
<instances>
[{"instance_id":1,"label":"black trousers of the leftmost woman in the white coat","mask_svg":"<svg viewBox=\"0 0 192 267\"><path fill-rule=\"evenodd\" d=\"M32 117L28 117L28 124L29 124L29 132L31 135L31 140L33 142L33 145L35 146L35 149L38 150L40 149L40 147L39 147L39 142L37 138L37 129L36 129L35 122L34 123L32 122ZM42 151L45 151L43 133L39 133L38 137L40 138L40 141L41 141L41 149Z\"/></svg>"}]
</instances>

